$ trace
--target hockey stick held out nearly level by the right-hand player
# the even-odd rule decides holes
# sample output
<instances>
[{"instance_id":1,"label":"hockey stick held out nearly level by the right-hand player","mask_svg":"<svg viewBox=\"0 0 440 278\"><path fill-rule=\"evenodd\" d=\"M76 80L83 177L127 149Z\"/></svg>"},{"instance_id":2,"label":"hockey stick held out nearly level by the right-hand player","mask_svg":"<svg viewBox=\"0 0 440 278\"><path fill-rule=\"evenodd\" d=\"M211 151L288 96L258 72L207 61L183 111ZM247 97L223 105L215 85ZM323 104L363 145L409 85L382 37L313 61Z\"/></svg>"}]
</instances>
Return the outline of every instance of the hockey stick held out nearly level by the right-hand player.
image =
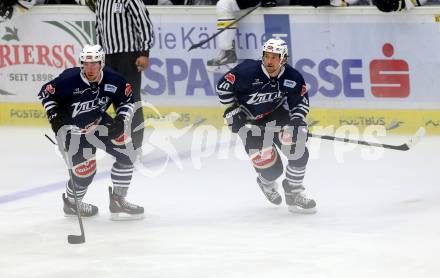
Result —
<instances>
[{"instance_id":1,"label":"hockey stick held out nearly level by the right-hand player","mask_svg":"<svg viewBox=\"0 0 440 278\"><path fill-rule=\"evenodd\" d=\"M258 126L252 126L256 128L268 129L273 130L274 132L279 132L280 128L274 128L274 127L258 127ZM251 128L252 128L251 127ZM377 147L377 148L384 148L384 149L391 149L396 151L408 151L412 147L414 147L417 143L420 142L420 140L425 136L426 130L424 127L420 127L416 133L411 136L411 138L403 144L400 145L390 145L390 144L382 144L382 143L376 143L376 142L368 142L363 140L355 140L355 139L349 139L349 138L341 138L341 137L335 137L331 135L320 135L320 134L314 134L314 133L308 133L307 137L313 137L313 138L319 138L329 141L339 141L339 142L345 142L345 143L351 143L351 144L357 144L357 145L364 145L364 146L371 146L371 147Z\"/></svg>"}]
</instances>

